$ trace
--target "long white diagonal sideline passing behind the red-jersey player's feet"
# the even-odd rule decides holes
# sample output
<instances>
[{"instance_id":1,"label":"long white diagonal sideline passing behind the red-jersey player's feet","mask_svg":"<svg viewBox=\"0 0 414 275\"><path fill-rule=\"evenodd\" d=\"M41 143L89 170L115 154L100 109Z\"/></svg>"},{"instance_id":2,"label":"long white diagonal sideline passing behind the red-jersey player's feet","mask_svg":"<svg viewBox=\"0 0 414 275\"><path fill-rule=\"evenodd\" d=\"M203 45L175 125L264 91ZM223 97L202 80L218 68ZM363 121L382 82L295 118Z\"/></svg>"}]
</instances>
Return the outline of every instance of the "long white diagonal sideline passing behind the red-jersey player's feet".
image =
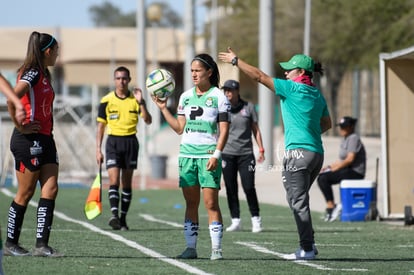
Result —
<instances>
[{"instance_id":1,"label":"long white diagonal sideline passing behind the red-jersey player's feet","mask_svg":"<svg viewBox=\"0 0 414 275\"><path fill-rule=\"evenodd\" d=\"M13 198L14 195L15 195L15 194L13 194L12 192L10 192L9 190L7 190L5 188L1 188L1 192L3 194L5 194L6 196L11 197L11 198ZM33 206L33 207L37 207L37 203L34 202L34 201L30 201L29 204L31 206ZM160 254L160 253L158 253L158 252L156 252L154 250L151 250L151 249L149 249L149 248L147 248L145 246L142 246L142 245L138 244L137 242L128 240L128 239L126 239L126 238L124 238L124 237L122 237L122 236L120 236L118 234L114 234L112 232L102 230L99 227L94 226L93 224L90 224L90 223L87 223L87 222L83 222L83 221L80 221L80 220L76 220L76 219L70 218L70 217L66 216L62 212L54 211L54 214L55 214L56 217L58 217L58 218L60 218L62 220L65 220L67 222L72 222L72 223L79 224L79 225L81 225L83 227L86 227L87 229L89 229L91 231L94 231L94 232L99 233L101 235L108 236L108 237L110 237L113 240L119 241L121 243L126 244L127 246L130 246L132 248L137 249L138 251L140 251L143 254L146 254L146 255L148 255L150 257L156 258L156 259L158 259L160 261L169 263L169 264L174 265L176 267L179 267L179 268L185 270L186 272L189 272L189 273L192 273L192 274L200 274L200 275L210 275L211 274L211 273L207 273L207 272L205 272L203 270L200 270L198 268L195 268L195 267L193 267L191 265L188 265L186 263L183 263L183 262L180 262L180 261L177 261L177 260L168 258L167 256L164 256L164 255L162 255L162 254Z\"/></svg>"}]
</instances>

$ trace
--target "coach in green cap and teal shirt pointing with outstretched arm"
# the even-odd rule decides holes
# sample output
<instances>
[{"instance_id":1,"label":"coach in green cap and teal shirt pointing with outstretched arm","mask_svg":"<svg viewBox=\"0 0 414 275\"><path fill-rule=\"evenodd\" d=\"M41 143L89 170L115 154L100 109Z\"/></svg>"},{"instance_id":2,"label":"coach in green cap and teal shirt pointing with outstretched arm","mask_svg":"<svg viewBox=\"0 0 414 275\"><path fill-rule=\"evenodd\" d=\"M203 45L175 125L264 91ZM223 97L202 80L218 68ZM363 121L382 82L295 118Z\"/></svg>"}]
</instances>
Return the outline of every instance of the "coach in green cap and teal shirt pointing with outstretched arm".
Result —
<instances>
[{"instance_id":1,"label":"coach in green cap and teal shirt pointing with outstretched arm","mask_svg":"<svg viewBox=\"0 0 414 275\"><path fill-rule=\"evenodd\" d=\"M318 251L314 244L309 190L323 164L321 134L332 127L326 101L312 82L313 73L323 73L322 65L307 55L297 54L280 63L286 79L277 79L241 60L231 48L219 53L219 58L238 66L280 97L285 126L282 180L300 241L299 249L285 258L312 260Z\"/></svg>"}]
</instances>

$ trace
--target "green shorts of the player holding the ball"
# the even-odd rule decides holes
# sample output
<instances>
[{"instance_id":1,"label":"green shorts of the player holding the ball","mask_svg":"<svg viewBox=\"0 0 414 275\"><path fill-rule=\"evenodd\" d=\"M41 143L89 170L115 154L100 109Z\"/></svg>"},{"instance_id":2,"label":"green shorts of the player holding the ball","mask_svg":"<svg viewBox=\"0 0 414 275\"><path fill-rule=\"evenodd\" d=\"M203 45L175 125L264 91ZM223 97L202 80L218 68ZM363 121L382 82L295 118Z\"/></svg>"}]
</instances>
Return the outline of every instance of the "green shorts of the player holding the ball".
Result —
<instances>
[{"instance_id":1,"label":"green shorts of the player holding the ball","mask_svg":"<svg viewBox=\"0 0 414 275\"><path fill-rule=\"evenodd\" d=\"M207 171L208 160L207 158L179 157L180 187L199 185L201 188L210 187L220 189L221 159L214 171Z\"/></svg>"}]
</instances>

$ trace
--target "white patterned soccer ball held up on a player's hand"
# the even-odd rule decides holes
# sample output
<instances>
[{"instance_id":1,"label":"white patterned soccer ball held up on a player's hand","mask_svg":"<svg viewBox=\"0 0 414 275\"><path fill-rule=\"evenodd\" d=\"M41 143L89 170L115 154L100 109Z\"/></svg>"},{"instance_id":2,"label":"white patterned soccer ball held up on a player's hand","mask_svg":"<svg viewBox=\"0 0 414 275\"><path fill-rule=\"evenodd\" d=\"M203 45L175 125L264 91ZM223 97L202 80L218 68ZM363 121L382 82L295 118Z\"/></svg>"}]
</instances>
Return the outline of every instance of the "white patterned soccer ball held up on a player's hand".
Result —
<instances>
[{"instance_id":1,"label":"white patterned soccer ball held up on a player's hand","mask_svg":"<svg viewBox=\"0 0 414 275\"><path fill-rule=\"evenodd\" d=\"M148 92L160 100L166 100L175 89L174 77L165 69L156 69L150 72L145 84Z\"/></svg>"}]
</instances>

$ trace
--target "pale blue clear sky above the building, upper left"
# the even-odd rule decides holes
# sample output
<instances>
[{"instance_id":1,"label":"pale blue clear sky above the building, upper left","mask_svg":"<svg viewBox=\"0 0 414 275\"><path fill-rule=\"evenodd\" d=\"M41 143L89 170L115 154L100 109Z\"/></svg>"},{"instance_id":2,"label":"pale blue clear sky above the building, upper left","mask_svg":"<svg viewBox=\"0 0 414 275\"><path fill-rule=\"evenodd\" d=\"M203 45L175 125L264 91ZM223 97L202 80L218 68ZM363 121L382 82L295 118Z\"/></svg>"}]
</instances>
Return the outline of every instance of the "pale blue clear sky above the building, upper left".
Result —
<instances>
[{"instance_id":1,"label":"pale blue clear sky above the building, upper left","mask_svg":"<svg viewBox=\"0 0 414 275\"><path fill-rule=\"evenodd\" d=\"M100 5L104 0L2 0L0 27L93 27L89 7ZM135 11L137 0L107 0L117 5L123 13ZM184 0L146 0L168 3L183 15ZM195 18L202 18L205 8L195 1ZM197 22L197 27L200 25Z\"/></svg>"}]
</instances>

